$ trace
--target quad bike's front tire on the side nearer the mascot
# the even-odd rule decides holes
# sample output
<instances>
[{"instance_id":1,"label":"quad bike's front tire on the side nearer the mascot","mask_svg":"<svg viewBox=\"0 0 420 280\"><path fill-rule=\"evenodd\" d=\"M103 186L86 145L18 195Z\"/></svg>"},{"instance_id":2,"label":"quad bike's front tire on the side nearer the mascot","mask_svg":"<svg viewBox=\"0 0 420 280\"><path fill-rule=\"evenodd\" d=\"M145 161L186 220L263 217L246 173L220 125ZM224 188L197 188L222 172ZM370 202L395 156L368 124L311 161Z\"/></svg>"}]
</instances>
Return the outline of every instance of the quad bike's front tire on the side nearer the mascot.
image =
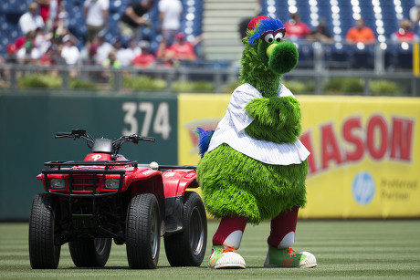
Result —
<instances>
[{"instance_id":1,"label":"quad bike's front tire on the side nearer the mascot","mask_svg":"<svg viewBox=\"0 0 420 280\"><path fill-rule=\"evenodd\" d=\"M161 246L161 215L152 193L140 193L131 198L126 226L130 268L156 268Z\"/></svg>"}]
</instances>

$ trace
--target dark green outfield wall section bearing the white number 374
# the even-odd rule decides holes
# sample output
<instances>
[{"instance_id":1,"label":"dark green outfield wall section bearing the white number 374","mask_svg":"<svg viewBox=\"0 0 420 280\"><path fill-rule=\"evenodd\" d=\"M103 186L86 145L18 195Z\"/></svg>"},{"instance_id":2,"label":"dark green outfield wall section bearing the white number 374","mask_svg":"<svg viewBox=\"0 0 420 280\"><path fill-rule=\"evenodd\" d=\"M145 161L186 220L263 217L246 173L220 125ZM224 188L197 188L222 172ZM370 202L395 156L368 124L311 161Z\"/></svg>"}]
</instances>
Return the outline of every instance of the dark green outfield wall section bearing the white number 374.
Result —
<instances>
[{"instance_id":1,"label":"dark green outfield wall section bearing the white number 374","mask_svg":"<svg viewBox=\"0 0 420 280\"><path fill-rule=\"evenodd\" d=\"M177 163L176 96L108 97L89 93L0 93L0 221L27 220L45 161L82 161L84 140L54 139L56 132L86 129L94 138L125 134L156 138L126 143L128 159Z\"/></svg>"}]
</instances>

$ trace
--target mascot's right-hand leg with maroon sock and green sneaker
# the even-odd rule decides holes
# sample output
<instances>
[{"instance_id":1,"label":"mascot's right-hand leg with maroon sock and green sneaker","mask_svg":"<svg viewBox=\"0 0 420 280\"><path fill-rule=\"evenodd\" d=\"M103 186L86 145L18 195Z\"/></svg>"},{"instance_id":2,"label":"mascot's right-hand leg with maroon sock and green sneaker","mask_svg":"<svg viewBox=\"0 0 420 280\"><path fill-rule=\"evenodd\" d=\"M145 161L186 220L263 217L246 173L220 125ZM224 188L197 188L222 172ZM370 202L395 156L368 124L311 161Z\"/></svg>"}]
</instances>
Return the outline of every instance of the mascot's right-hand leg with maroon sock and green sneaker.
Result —
<instances>
[{"instance_id":1,"label":"mascot's right-hand leg with maroon sock and green sneaker","mask_svg":"<svg viewBox=\"0 0 420 280\"><path fill-rule=\"evenodd\" d=\"M266 267L315 267L317 260L309 252L299 252L290 248L295 242L296 223L299 207L289 212L279 213L271 220L271 232L268 236L268 254Z\"/></svg>"}]
</instances>

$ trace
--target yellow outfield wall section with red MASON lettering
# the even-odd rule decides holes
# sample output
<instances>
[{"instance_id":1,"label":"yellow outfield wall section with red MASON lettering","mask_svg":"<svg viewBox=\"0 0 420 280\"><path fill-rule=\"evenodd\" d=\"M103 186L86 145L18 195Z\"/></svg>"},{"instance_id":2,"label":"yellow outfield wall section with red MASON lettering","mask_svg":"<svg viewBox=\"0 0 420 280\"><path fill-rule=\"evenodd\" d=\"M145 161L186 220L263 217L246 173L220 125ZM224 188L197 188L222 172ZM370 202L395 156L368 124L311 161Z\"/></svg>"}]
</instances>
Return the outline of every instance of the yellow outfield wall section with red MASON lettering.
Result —
<instances>
[{"instance_id":1,"label":"yellow outfield wall section with red MASON lettering","mask_svg":"<svg viewBox=\"0 0 420 280\"><path fill-rule=\"evenodd\" d=\"M310 150L301 218L420 217L420 99L298 96ZM179 160L195 164L196 127L215 129L230 95L181 95Z\"/></svg>"}]
</instances>

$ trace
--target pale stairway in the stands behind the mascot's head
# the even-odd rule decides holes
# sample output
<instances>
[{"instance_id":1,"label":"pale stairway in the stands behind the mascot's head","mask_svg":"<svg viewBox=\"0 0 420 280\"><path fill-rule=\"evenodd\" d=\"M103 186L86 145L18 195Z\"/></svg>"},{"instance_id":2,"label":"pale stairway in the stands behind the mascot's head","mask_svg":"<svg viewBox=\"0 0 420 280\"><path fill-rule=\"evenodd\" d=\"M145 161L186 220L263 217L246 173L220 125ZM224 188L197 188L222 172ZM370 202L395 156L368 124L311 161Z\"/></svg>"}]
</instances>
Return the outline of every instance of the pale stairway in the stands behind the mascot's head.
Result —
<instances>
[{"instance_id":1,"label":"pale stairway in the stands behind the mascot's head","mask_svg":"<svg viewBox=\"0 0 420 280\"><path fill-rule=\"evenodd\" d=\"M205 0L203 32L206 39L202 46L205 59L238 63L243 50L239 23L258 13L258 0Z\"/></svg>"}]
</instances>

